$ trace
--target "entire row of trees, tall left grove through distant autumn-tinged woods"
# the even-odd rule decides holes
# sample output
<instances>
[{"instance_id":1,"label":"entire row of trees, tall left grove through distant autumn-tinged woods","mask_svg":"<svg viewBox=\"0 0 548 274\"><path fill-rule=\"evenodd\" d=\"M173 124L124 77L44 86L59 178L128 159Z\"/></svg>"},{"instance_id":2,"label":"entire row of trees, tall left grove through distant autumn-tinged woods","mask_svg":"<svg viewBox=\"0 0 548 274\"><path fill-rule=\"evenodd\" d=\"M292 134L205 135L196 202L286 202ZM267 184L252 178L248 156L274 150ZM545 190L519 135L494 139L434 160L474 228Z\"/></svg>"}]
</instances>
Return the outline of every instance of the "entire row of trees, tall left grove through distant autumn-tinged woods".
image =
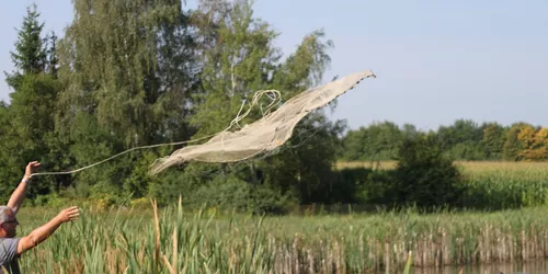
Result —
<instances>
[{"instance_id":1,"label":"entire row of trees, tall left grove through distant autumn-tinged woods","mask_svg":"<svg viewBox=\"0 0 548 274\"><path fill-rule=\"evenodd\" d=\"M0 104L4 201L28 161L39 160L44 171L67 171L138 146L195 140L226 128L253 92L276 89L287 100L319 84L329 68L334 45L321 28L304 36L295 52L282 53L274 46L279 34L253 14L252 1L201 0L195 10L183 2L75 0L75 18L60 37L44 34L37 7L28 7L11 53L15 69L4 71L10 100ZM260 116L254 110L244 122ZM28 196L36 205L79 199L103 206L148 197L167 204L182 196L194 206L283 213L302 204L358 203L364 195L375 202L374 191L359 189L359 172L333 170L341 159L409 156L389 180L377 180L398 185L398 178L416 170L413 157L423 155L430 160L421 170L431 174L437 164L443 171L442 178L422 180L435 189L439 180L453 184L443 178L455 173L438 151L469 160L546 158L547 130L523 123L506 128L457 121L422 133L387 122L345 130L343 121L318 111L269 157L192 162L151 176L149 165L181 146L137 150L71 175L37 178ZM423 153L432 146L420 139L439 146ZM409 197L390 193L383 203Z\"/></svg>"}]
</instances>

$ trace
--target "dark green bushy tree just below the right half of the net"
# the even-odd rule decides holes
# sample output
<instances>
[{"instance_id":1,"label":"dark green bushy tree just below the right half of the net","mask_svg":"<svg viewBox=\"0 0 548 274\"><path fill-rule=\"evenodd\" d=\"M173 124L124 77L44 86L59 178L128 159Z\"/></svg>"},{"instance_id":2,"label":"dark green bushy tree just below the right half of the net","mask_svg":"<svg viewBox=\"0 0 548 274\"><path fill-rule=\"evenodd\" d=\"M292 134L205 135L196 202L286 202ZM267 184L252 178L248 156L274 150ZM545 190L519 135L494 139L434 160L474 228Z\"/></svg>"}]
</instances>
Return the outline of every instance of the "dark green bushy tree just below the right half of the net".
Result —
<instances>
[{"instance_id":1,"label":"dark green bushy tree just below the right half of the net","mask_svg":"<svg viewBox=\"0 0 548 274\"><path fill-rule=\"evenodd\" d=\"M302 121L295 129L296 137L279 152L256 162L262 180L295 193L302 204L349 201L352 190L340 184L332 172L342 128L322 115Z\"/></svg>"}]
</instances>

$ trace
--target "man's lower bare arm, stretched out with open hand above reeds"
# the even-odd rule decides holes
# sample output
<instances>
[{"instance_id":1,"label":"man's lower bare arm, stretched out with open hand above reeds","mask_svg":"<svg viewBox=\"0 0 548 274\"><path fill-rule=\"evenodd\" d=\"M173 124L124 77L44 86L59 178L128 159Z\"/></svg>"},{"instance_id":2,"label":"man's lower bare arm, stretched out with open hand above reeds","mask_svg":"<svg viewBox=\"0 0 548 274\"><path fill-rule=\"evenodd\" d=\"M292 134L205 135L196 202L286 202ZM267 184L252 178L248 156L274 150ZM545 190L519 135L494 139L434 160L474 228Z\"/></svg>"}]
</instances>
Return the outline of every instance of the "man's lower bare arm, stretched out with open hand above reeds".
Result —
<instances>
[{"instance_id":1,"label":"man's lower bare arm, stretched out with open hand above reeds","mask_svg":"<svg viewBox=\"0 0 548 274\"><path fill-rule=\"evenodd\" d=\"M23 252L35 248L41 242L46 240L49 236L52 236L62 222L77 219L78 216L80 216L80 212L77 206L62 209L50 221L42 227L34 229L28 236L21 238L18 243L18 254L22 254Z\"/></svg>"}]
</instances>

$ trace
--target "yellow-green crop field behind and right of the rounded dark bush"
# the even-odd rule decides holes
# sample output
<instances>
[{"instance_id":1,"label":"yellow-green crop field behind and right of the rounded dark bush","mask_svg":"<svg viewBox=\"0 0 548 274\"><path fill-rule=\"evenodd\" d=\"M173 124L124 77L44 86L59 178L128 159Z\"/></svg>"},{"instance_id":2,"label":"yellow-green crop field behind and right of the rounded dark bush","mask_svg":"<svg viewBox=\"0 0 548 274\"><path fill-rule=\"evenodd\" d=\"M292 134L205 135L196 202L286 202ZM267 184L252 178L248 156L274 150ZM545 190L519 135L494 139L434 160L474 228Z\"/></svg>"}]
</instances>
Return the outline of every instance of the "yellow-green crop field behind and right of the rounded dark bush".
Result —
<instances>
[{"instance_id":1,"label":"yellow-green crop field behind and right of the rounded dark bush","mask_svg":"<svg viewBox=\"0 0 548 274\"><path fill-rule=\"evenodd\" d=\"M387 187L387 174L392 174L397 164L396 161L339 162L336 170L362 185L361 204L390 205L393 192ZM454 208L498 210L547 204L548 162L460 161L454 165L460 173L455 190L460 196L450 204Z\"/></svg>"}]
</instances>

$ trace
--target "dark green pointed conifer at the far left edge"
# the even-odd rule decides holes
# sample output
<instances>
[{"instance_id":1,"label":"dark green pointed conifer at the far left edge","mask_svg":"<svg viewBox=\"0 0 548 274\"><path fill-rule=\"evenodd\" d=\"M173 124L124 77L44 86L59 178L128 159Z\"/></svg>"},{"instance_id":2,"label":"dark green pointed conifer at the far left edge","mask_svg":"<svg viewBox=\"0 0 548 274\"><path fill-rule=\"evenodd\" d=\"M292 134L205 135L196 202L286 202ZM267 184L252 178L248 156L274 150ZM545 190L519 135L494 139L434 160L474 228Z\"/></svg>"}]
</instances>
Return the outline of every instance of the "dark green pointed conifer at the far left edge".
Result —
<instances>
[{"instance_id":1,"label":"dark green pointed conifer at the far left edge","mask_svg":"<svg viewBox=\"0 0 548 274\"><path fill-rule=\"evenodd\" d=\"M0 123L2 132L0 171L9 189L21 176L21 169L31 160L41 160L45 168L62 162L60 148L55 142L54 116L57 93L61 89L55 76L46 73L49 60L55 61L54 47L45 44L42 37L43 23L38 23L36 5L27 8L23 26L19 31L15 52L11 53L15 67L13 73L7 73L7 82L13 89L10 104L2 105ZM18 172L19 171L19 172ZM44 179L30 191L30 196L46 194L50 187L58 186L61 180Z\"/></svg>"}]
</instances>

